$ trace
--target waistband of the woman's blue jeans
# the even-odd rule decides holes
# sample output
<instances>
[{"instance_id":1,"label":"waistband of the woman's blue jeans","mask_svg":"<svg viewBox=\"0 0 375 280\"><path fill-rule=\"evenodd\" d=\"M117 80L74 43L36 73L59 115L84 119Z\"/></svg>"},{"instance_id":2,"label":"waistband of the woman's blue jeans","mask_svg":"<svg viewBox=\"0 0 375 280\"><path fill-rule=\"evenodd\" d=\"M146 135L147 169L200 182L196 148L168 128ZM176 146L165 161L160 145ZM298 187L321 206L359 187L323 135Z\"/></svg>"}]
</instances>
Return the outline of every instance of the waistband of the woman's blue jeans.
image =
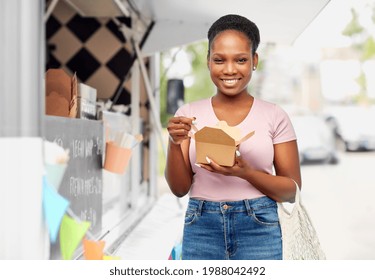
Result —
<instances>
[{"instance_id":1,"label":"waistband of the woman's blue jeans","mask_svg":"<svg viewBox=\"0 0 375 280\"><path fill-rule=\"evenodd\" d=\"M259 198L244 199L239 201L208 201L190 198L188 209L195 209L197 214L202 212L244 212L251 214L260 208L277 207L276 202L268 196Z\"/></svg>"}]
</instances>

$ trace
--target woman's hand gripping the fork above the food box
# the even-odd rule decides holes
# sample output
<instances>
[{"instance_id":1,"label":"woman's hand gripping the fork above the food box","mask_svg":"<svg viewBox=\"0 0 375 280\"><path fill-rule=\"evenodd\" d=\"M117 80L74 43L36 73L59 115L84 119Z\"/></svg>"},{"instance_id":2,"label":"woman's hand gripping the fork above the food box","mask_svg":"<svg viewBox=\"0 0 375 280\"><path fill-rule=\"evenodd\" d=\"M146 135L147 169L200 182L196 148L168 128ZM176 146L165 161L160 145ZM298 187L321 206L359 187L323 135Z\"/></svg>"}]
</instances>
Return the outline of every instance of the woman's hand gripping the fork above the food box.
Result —
<instances>
[{"instance_id":1,"label":"woman's hand gripping the fork above the food box","mask_svg":"<svg viewBox=\"0 0 375 280\"><path fill-rule=\"evenodd\" d=\"M167 130L170 141L175 145L180 145L189 138L191 124L195 118L172 117L168 121Z\"/></svg>"}]
</instances>

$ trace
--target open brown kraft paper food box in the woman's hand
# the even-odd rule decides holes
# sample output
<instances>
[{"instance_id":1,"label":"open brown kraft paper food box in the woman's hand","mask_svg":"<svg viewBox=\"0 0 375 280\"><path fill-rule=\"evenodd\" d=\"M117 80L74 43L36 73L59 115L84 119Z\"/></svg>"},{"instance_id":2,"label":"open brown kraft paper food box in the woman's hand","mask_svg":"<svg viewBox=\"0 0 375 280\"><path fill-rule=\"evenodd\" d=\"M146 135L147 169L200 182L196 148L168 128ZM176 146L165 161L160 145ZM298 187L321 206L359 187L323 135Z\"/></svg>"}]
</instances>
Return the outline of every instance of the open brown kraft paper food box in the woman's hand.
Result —
<instances>
[{"instance_id":1,"label":"open brown kraft paper food box in the woman's hand","mask_svg":"<svg viewBox=\"0 0 375 280\"><path fill-rule=\"evenodd\" d=\"M207 163L206 157L222 166L233 166L237 146L254 135L252 131L242 137L239 128L220 121L216 127L205 126L192 135L195 140L196 162Z\"/></svg>"}]
</instances>

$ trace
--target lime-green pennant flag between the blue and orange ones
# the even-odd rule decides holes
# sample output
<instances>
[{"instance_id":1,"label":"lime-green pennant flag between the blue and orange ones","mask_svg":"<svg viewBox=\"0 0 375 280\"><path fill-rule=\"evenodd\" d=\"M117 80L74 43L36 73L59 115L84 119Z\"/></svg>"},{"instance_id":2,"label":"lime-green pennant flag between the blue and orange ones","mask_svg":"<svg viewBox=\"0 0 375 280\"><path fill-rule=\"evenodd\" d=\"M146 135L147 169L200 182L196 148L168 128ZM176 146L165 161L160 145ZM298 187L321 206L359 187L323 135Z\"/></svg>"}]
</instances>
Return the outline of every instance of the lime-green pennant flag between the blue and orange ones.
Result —
<instances>
[{"instance_id":1,"label":"lime-green pennant flag between the blue and orange ones","mask_svg":"<svg viewBox=\"0 0 375 280\"><path fill-rule=\"evenodd\" d=\"M74 251L90 228L90 225L90 222L77 222L64 215L60 226L60 250L64 260L72 259Z\"/></svg>"}]
</instances>

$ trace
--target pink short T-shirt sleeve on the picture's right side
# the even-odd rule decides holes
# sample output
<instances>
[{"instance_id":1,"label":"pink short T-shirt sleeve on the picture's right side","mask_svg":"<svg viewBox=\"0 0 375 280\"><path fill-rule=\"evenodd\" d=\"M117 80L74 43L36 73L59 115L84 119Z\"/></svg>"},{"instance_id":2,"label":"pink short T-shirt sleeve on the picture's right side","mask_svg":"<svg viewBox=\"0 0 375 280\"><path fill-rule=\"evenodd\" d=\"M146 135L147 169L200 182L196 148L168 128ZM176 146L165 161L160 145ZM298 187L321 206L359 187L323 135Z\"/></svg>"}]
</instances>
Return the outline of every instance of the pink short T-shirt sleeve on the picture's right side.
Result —
<instances>
[{"instance_id":1,"label":"pink short T-shirt sleeve on the picture's right side","mask_svg":"<svg viewBox=\"0 0 375 280\"><path fill-rule=\"evenodd\" d=\"M296 133L288 114L277 105L275 105L274 118L273 144L296 140Z\"/></svg>"}]
</instances>

